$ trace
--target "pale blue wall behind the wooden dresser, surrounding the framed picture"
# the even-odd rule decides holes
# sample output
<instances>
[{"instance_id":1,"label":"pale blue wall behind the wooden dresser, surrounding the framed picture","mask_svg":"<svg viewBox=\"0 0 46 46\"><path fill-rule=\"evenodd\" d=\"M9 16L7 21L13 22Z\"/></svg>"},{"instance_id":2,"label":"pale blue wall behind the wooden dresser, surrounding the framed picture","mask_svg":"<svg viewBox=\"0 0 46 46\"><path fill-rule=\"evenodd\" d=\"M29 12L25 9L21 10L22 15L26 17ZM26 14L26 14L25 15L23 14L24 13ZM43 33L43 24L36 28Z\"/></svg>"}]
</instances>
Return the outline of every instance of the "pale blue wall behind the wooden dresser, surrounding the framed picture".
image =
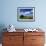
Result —
<instances>
[{"instance_id":1,"label":"pale blue wall behind the wooden dresser, surrounding the framed picture","mask_svg":"<svg viewBox=\"0 0 46 46\"><path fill-rule=\"evenodd\" d=\"M0 27L46 28L46 0L0 0ZM35 7L35 22L18 22L17 7Z\"/></svg>"}]
</instances>

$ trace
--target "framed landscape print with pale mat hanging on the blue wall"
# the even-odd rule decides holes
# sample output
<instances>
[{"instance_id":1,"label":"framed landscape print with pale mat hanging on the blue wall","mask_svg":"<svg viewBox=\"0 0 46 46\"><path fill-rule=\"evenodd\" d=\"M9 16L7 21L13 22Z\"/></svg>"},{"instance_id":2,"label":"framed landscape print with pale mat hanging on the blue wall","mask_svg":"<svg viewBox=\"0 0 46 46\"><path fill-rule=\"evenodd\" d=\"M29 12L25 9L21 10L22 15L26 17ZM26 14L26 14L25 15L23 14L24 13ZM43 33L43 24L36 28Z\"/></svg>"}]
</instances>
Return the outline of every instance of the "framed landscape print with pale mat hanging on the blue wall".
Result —
<instances>
[{"instance_id":1,"label":"framed landscape print with pale mat hanging on the blue wall","mask_svg":"<svg viewBox=\"0 0 46 46\"><path fill-rule=\"evenodd\" d=\"M18 7L17 20L22 22L35 21L35 7Z\"/></svg>"}]
</instances>

